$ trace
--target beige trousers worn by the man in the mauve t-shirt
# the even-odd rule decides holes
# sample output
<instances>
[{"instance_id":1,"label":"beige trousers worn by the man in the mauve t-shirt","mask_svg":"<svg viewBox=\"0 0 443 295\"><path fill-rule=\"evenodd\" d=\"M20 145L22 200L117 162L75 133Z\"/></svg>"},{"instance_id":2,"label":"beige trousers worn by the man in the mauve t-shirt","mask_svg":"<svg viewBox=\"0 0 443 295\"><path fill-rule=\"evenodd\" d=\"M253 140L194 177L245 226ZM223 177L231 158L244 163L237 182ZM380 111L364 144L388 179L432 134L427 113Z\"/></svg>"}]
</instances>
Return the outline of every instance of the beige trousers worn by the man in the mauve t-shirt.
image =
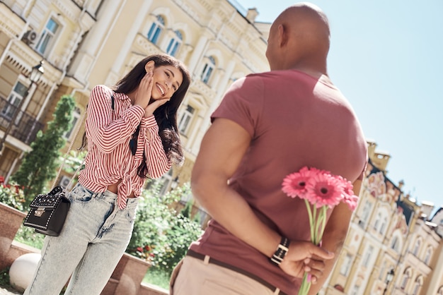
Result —
<instances>
[{"instance_id":1,"label":"beige trousers worn by the man in the mauve t-shirt","mask_svg":"<svg viewBox=\"0 0 443 295\"><path fill-rule=\"evenodd\" d=\"M186 256L173 270L169 294L273 295L279 292L280 289L272 291L234 270Z\"/></svg>"}]
</instances>

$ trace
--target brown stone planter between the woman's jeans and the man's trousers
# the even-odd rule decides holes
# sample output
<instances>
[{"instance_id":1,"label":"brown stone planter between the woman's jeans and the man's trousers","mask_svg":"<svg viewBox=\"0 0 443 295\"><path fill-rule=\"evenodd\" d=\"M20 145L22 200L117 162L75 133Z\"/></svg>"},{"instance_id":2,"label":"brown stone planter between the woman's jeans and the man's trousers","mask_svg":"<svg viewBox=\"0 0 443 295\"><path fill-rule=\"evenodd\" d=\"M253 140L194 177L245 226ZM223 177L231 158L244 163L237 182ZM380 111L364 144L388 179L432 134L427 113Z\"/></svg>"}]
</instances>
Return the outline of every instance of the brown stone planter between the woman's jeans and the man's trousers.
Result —
<instances>
[{"instance_id":1,"label":"brown stone planter between the woman's jeans and the man's trousers","mask_svg":"<svg viewBox=\"0 0 443 295\"><path fill-rule=\"evenodd\" d=\"M100 295L137 295L149 266L146 260L123 254Z\"/></svg>"}]
</instances>

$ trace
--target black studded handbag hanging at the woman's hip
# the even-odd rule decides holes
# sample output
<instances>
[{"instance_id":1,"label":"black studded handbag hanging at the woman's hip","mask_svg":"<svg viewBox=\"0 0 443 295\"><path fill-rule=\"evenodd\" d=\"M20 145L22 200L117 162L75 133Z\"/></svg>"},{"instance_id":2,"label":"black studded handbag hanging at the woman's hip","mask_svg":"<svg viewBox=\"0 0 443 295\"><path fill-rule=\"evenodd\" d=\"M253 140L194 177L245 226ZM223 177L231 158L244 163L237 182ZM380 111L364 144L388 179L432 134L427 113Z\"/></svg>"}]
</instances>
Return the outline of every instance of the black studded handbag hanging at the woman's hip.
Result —
<instances>
[{"instance_id":1,"label":"black studded handbag hanging at the woman's hip","mask_svg":"<svg viewBox=\"0 0 443 295\"><path fill-rule=\"evenodd\" d=\"M62 186L52 188L50 193L37 195L30 203L23 225L34 228L40 234L58 236L71 205L65 195Z\"/></svg>"}]
</instances>

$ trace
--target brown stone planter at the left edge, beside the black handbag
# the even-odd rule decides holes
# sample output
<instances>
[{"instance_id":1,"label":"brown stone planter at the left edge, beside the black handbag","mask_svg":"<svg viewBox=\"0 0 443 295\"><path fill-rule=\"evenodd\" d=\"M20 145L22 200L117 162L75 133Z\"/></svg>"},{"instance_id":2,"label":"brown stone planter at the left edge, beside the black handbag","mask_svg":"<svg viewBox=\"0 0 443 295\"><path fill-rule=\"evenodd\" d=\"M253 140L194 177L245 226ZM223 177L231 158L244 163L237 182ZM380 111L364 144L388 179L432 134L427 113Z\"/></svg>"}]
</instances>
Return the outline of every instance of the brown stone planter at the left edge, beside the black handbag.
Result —
<instances>
[{"instance_id":1,"label":"brown stone planter at the left edge, beside the black handbag","mask_svg":"<svg viewBox=\"0 0 443 295\"><path fill-rule=\"evenodd\" d=\"M24 212L0 203L0 270L13 263L8 259L8 252L25 217Z\"/></svg>"}]
</instances>

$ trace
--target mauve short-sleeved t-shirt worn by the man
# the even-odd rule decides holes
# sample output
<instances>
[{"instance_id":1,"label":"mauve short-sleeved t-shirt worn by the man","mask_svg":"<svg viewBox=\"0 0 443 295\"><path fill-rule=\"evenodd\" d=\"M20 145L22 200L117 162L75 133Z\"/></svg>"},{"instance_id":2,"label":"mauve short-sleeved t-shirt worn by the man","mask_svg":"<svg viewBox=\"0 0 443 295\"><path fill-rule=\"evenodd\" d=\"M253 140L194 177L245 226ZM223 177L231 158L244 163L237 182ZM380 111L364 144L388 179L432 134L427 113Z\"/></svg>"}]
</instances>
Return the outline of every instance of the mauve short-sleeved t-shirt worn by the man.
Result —
<instances>
[{"instance_id":1,"label":"mauve short-sleeved t-shirt worn by the man","mask_svg":"<svg viewBox=\"0 0 443 295\"><path fill-rule=\"evenodd\" d=\"M251 135L229 186L265 224L292 241L309 241L309 218L304 201L282 192L285 176L308 166L351 182L362 179L367 163L362 128L326 76L317 79L296 70L248 75L231 85L212 114L212 120L217 118L235 121ZM300 279L286 275L216 220L190 248L297 294Z\"/></svg>"}]
</instances>

